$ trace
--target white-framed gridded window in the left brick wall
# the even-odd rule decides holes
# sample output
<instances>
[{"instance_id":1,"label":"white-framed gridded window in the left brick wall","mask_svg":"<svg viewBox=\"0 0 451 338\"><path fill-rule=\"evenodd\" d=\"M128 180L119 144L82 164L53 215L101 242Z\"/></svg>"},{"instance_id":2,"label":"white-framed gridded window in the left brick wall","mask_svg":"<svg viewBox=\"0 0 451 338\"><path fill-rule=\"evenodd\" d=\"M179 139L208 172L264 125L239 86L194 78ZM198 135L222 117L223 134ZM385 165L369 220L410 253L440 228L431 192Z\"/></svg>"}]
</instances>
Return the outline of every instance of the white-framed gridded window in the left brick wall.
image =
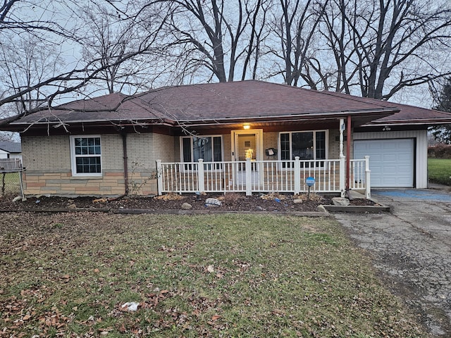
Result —
<instances>
[{"instance_id":1,"label":"white-framed gridded window in the left brick wall","mask_svg":"<svg viewBox=\"0 0 451 338\"><path fill-rule=\"evenodd\" d=\"M99 136L71 136L70 154L73 176L101 176Z\"/></svg>"}]
</instances>

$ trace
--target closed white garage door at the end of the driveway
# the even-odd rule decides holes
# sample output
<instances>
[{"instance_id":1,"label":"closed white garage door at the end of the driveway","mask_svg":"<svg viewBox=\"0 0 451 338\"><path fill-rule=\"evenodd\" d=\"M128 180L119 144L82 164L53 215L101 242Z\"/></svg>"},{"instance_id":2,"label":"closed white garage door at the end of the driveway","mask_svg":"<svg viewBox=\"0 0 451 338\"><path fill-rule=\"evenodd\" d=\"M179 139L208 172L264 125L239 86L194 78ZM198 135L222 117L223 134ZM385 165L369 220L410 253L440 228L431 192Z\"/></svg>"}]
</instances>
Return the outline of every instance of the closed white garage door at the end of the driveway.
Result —
<instances>
[{"instance_id":1,"label":"closed white garage door at the end of the driveway","mask_svg":"<svg viewBox=\"0 0 451 338\"><path fill-rule=\"evenodd\" d=\"M414 140L354 141L354 158L370 156L371 187L414 186Z\"/></svg>"}]
</instances>

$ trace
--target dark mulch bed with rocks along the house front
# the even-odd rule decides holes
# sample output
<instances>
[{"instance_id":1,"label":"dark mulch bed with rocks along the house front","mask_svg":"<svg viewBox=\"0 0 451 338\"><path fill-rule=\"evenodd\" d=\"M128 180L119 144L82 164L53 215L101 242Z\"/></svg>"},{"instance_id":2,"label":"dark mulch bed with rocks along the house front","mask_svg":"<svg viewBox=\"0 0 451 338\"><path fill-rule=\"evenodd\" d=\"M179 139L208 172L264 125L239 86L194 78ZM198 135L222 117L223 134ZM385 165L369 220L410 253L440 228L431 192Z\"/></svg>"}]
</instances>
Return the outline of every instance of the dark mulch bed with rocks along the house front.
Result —
<instances>
[{"instance_id":1,"label":"dark mulch bed with rocks along the house front","mask_svg":"<svg viewBox=\"0 0 451 338\"><path fill-rule=\"evenodd\" d=\"M29 210L57 210L66 208L87 208L87 209L144 209L149 211L159 210L180 210L182 204L187 203L192 206L192 210L214 209L218 211L273 211L273 212L311 212L316 211L320 205L331 204L331 197L311 195L307 201L307 196L297 196L303 199L302 203L295 203L296 198L292 194L206 194L197 196L196 194L172 194L166 197L123 197L121 199L99 199L95 197L29 197L26 201L13 202L14 196L0 197L0 210L3 211L29 211ZM221 201L221 206L211 206L206 204L206 199L216 198ZM366 199L354 199L352 205L373 205L373 201Z\"/></svg>"}]
</instances>

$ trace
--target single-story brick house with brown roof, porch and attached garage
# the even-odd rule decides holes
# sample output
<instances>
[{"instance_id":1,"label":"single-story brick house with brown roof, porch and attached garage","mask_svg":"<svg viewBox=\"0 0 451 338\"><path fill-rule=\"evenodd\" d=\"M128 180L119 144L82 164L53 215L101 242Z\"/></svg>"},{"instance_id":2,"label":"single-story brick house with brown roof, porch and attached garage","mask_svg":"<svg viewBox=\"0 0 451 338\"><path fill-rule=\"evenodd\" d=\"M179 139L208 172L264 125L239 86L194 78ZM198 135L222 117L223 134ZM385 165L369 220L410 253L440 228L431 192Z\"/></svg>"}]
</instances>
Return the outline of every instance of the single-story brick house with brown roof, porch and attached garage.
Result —
<instances>
[{"instance_id":1,"label":"single-story brick house with brown roof, porch and attached garage","mask_svg":"<svg viewBox=\"0 0 451 338\"><path fill-rule=\"evenodd\" d=\"M307 177L344 194L370 177L427 187L427 127L441 123L451 114L250 80L109 94L2 129L21 133L27 195L298 193Z\"/></svg>"}]
</instances>

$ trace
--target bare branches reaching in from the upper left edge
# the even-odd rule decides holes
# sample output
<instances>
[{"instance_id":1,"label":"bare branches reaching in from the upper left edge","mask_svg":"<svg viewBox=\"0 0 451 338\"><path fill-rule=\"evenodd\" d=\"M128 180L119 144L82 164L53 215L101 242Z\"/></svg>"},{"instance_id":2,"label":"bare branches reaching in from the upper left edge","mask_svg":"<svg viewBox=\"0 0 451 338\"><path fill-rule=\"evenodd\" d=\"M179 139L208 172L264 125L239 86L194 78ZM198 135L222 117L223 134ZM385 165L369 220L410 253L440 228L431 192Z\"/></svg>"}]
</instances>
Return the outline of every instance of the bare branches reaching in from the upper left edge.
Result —
<instances>
[{"instance_id":1,"label":"bare branches reaching in from the upper left edge","mask_svg":"<svg viewBox=\"0 0 451 338\"><path fill-rule=\"evenodd\" d=\"M0 39L4 51L18 51L20 44L29 43L32 46L32 40L36 42L36 48L40 46L44 50L51 50L49 46L59 46L58 53L61 53L61 58L66 58L66 63L58 69L47 62L52 59L51 56L39 61L34 55L30 60L35 63L35 70L40 67L45 71L32 74L31 63L17 68L20 58L4 53L4 69L9 81L7 87L1 89L0 106L14 103L22 109L1 123L8 123L42 106L51 106L55 99L85 89L87 84L104 79L107 70L114 72L119 65L149 50L152 39L142 39L133 48L111 51L108 58L96 54L82 56L80 50L86 36L75 11L85 4L78 1L4 1L0 7ZM39 62L41 65L38 65ZM20 71L25 75L19 75ZM33 104L30 104L31 101Z\"/></svg>"}]
</instances>

